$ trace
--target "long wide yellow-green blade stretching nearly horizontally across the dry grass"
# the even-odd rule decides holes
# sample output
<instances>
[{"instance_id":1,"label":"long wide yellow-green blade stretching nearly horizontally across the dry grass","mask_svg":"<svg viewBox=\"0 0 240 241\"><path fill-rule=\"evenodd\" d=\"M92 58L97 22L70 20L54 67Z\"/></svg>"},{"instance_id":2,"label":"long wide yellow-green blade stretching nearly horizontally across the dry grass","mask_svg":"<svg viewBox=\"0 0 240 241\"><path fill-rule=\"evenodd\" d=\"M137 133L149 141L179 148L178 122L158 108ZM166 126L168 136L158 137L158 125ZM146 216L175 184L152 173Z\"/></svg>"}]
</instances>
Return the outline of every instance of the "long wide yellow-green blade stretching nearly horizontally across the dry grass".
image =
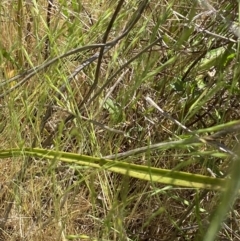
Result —
<instances>
[{"instance_id":1,"label":"long wide yellow-green blade stretching nearly horizontally across the dry grass","mask_svg":"<svg viewBox=\"0 0 240 241\"><path fill-rule=\"evenodd\" d=\"M226 182L225 179L212 178L203 175L172 171L151 166L136 165L123 161L113 161L98 157L54 150L25 148L0 151L0 158L19 156L46 158L49 160L57 160L69 164L76 164L81 166L84 165L112 171L122 175L128 175L130 177L138 178L141 180L158 182L167 185L183 186L188 188L219 190L224 188Z\"/></svg>"}]
</instances>

